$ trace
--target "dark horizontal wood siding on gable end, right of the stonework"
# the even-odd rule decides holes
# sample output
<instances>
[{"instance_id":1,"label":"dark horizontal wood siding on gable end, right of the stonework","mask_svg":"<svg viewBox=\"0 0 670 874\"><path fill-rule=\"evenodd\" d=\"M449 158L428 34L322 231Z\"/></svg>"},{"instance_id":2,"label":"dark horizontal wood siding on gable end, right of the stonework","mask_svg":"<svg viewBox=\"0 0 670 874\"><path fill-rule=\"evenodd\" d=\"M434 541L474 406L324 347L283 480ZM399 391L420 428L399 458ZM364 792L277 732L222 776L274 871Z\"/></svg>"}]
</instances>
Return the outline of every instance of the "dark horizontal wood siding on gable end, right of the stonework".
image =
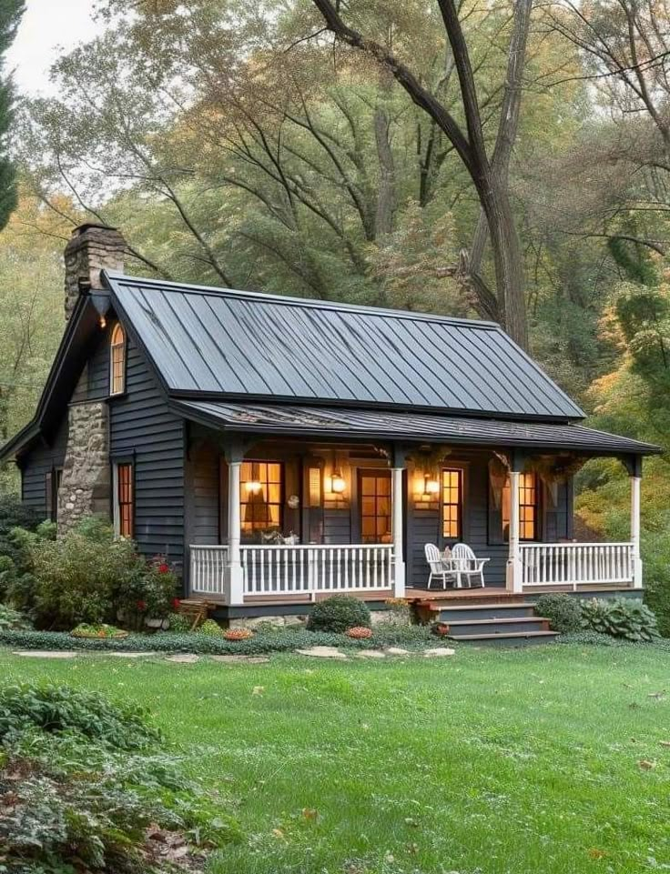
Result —
<instances>
[{"instance_id":1,"label":"dark horizontal wood siding on gable end, right of the stonework","mask_svg":"<svg viewBox=\"0 0 670 874\"><path fill-rule=\"evenodd\" d=\"M89 365L94 397L102 391L103 371L107 367L94 355ZM143 353L128 337L126 394L109 400L109 454L112 462L135 464L138 547L148 558L167 555L179 568L184 558L184 427L184 420L167 407Z\"/></svg>"}]
</instances>

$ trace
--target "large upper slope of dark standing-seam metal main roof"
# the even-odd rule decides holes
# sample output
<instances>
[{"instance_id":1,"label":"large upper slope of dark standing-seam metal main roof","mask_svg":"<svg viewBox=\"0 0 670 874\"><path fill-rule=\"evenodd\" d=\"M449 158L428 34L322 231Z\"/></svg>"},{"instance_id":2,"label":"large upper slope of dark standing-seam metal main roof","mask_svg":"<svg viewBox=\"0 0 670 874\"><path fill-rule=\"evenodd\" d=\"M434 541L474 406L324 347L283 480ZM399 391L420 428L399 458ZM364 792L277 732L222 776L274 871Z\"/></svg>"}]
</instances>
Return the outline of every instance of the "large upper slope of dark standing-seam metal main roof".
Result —
<instances>
[{"instance_id":1,"label":"large upper slope of dark standing-seam metal main roof","mask_svg":"<svg viewBox=\"0 0 670 874\"><path fill-rule=\"evenodd\" d=\"M490 322L106 277L169 392L584 417Z\"/></svg>"}]
</instances>

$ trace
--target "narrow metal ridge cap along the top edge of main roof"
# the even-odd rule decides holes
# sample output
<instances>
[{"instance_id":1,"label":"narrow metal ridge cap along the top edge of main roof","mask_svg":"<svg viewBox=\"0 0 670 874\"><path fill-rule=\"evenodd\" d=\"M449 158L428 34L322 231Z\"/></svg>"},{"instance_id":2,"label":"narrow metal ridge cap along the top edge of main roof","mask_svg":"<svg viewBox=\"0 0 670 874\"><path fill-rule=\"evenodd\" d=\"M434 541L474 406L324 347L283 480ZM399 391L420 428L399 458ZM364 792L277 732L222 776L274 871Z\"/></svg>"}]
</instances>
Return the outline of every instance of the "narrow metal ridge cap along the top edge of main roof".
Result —
<instances>
[{"instance_id":1,"label":"narrow metal ridge cap along the top edge of main roof","mask_svg":"<svg viewBox=\"0 0 670 874\"><path fill-rule=\"evenodd\" d=\"M219 297L234 297L240 300L249 299L256 301L268 301L278 303L282 306L305 306L310 309L330 309L336 312L350 313L367 313L371 316L384 316L392 318L403 318L413 321L421 320L424 322L438 322L449 325L461 325L471 329L481 329L485 331L502 331L503 328L492 321L485 321L478 318L466 318L460 316L440 316L437 313L415 313L409 309L391 309L386 306L370 306L365 304L344 304L331 300L320 300L318 297L294 297L289 295L278 295L265 291L249 291L239 288L221 288L220 286L200 286L195 283L174 282L167 279L150 279L146 276L128 276L126 273L119 273L116 270L103 270L103 276L111 283L119 283L122 285L141 285L153 286L156 289L167 288L174 289L182 294L194 295L213 295Z\"/></svg>"}]
</instances>

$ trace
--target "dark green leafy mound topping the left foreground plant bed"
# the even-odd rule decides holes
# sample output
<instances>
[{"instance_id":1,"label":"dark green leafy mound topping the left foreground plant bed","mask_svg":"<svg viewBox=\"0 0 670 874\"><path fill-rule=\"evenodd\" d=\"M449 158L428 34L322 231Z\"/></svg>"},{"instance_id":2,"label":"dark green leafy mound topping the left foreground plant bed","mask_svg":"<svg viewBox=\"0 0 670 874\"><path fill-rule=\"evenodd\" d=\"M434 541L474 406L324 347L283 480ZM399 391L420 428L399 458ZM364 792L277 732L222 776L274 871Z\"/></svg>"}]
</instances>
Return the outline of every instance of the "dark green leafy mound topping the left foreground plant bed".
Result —
<instances>
[{"instance_id":1,"label":"dark green leafy mound topping the left foreground plant bed","mask_svg":"<svg viewBox=\"0 0 670 874\"><path fill-rule=\"evenodd\" d=\"M48 733L75 732L119 749L139 749L160 739L147 722L147 711L112 704L96 692L67 686L21 683L0 688L0 740L13 740L40 728Z\"/></svg>"}]
</instances>

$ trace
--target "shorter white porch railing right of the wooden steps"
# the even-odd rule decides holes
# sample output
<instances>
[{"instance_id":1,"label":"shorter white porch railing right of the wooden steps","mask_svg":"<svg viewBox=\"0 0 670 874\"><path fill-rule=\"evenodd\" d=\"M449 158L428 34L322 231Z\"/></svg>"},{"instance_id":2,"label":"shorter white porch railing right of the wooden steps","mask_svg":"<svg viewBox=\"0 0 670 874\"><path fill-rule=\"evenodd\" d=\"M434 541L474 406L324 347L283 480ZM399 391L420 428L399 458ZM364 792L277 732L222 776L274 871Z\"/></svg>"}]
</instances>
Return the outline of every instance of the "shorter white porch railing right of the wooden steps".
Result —
<instances>
[{"instance_id":1,"label":"shorter white porch railing right of the wooden steps","mask_svg":"<svg viewBox=\"0 0 670 874\"><path fill-rule=\"evenodd\" d=\"M632 543L521 543L523 586L631 585Z\"/></svg>"}]
</instances>

